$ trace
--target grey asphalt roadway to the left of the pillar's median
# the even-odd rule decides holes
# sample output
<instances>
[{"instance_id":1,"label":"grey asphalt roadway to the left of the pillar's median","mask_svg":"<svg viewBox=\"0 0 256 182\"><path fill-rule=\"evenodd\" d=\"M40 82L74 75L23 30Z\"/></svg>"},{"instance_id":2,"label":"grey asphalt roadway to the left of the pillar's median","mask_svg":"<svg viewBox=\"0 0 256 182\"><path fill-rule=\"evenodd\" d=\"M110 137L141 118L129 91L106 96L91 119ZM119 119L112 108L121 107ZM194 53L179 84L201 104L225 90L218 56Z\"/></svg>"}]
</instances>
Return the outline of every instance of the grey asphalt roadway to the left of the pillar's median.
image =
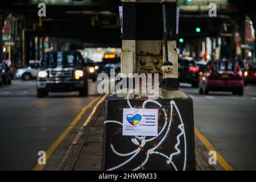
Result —
<instances>
[{"instance_id":1,"label":"grey asphalt roadway to the left of the pillar's median","mask_svg":"<svg viewBox=\"0 0 256 182\"><path fill-rule=\"evenodd\" d=\"M96 82L89 82L89 96L78 92L49 93L36 97L35 81L13 81L0 86L0 170L32 170L38 152L47 151L81 111L97 96ZM56 169L78 133L89 109L53 152L45 169Z\"/></svg>"}]
</instances>

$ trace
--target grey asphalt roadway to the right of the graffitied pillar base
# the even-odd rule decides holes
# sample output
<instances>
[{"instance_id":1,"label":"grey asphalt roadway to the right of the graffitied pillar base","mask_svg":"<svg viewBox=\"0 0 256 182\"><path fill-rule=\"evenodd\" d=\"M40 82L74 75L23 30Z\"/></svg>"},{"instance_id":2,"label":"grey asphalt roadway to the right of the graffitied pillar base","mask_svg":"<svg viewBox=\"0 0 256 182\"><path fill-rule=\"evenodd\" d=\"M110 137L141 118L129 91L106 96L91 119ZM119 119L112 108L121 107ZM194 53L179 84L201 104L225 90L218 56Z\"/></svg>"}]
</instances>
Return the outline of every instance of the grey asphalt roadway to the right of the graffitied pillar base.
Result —
<instances>
[{"instance_id":1,"label":"grey asphalt roadway to the right of the graffitied pillar base","mask_svg":"<svg viewBox=\"0 0 256 182\"><path fill-rule=\"evenodd\" d=\"M256 86L246 86L243 97L181 90L193 98L195 126L226 162L235 170L256 170Z\"/></svg>"}]
</instances>

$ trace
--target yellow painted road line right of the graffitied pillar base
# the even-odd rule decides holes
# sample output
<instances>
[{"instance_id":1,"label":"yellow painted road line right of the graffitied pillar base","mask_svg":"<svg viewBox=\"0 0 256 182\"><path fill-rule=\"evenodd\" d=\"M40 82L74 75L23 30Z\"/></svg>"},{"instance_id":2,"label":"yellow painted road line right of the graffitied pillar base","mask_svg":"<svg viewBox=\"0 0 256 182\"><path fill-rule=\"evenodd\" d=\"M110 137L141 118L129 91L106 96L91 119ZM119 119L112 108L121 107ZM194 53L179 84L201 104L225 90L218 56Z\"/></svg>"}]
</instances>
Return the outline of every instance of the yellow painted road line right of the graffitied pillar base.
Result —
<instances>
[{"instance_id":1,"label":"yellow painted road line right of the graffitied pillar base","mask_svg":"<svg viewBox=\"0 0 256 182\"><path fill-rule=\"evenodd\" d=\"M212 144L210 144L209 140L207 138L204 137L203 134L200 133L200 131L195 127L195 134L196 137L199 138L201 140L201 142L205 145L205 147L207 147L207 149L209 151L216 151ZM218 163L226 170L226 171L234 171L234 169L226 162L226 160L224 158L222 158L222 156L220 154L218 154L218 152L216 151L216 155L217 155L217 161Z\"/></svg>"}]
</instances>

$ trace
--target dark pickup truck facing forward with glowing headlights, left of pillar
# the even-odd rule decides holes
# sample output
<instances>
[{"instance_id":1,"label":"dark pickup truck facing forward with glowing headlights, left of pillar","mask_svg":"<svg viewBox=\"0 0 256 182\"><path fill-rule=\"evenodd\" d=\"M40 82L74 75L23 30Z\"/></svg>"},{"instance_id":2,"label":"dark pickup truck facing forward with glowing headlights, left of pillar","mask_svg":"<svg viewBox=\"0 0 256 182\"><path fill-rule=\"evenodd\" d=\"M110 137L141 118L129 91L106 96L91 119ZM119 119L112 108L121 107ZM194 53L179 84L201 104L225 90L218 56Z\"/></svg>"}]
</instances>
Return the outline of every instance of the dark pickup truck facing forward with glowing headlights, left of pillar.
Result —
<instances>
[{"instance_id":1,"label":"dark pickup truck facing forward with glowing headlights, left of pillar","mask_svg":"<svg viewBox=\"0 0 256 182\"><path fill-rule=\"evenodd\" d=\"M43 55L37 77L37 96L48 92L79 91L88 95L88 75L81 53L77 51L47 52Z\"/></svg>"}]
</instances>

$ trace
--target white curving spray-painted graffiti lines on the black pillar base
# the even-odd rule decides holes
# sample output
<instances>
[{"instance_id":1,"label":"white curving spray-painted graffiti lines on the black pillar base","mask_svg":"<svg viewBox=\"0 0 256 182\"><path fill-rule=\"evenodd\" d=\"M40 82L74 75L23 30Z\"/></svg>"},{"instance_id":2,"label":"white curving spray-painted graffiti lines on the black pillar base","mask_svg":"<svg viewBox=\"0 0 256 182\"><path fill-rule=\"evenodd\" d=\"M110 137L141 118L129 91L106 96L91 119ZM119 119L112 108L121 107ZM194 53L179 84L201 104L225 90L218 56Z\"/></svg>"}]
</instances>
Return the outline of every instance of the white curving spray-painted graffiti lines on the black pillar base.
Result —
<instances>
[{"instance_id":1,"label":"white curving spray-painted graffiti lines on the black pillar base","mask_svg":"<svg viewBox=\"0 0 256 182\"><path fill-rule=\"evenodd\" d=\"M125 154L122 154L120 152L118 152L117 150L115 150L113 144L111 143L110 144L110 147L112 149L112 151L118 155L118 156L131 156L129 159L127 159L125 162L119 164L118 166L114 166L112 168L109 168L108 170L109 171L112 171L112 170L115 170L115 169L118 169L122 166L124 166L125 164L129 163L132 159L135 158L135 156L137 156L139 154L139 152L142 150L142 148L144 147L144 145L147 143L147 142L150 142L156 138L158 138L163 132L164 130L166 130L166 133L164 133L162 139L160 139L160 141L156 144L156 146L150 148L147 152L146 152L146 159L144 159L144 161L141 163L141 165L138 165L138 167L135 167L133 170L136 171L138 169L141 169L141 167L145 166L145 164L148 162L148 159L150 157L150 155L160 155L160 156L163 156L164 158L167 159L167 164L171 164L174 169L177 171L179 170L175 163L172 161L173 157L175 155L179 155L181 154L181 151L180 151L180 137L183 136L183 139L184 139L184 162L183 162L183 168L182 170L184 171L186 169L186 163L187 163L187 142L186 142L186 137L185 137L185 129L184 129L184 123L183 123L183 120L181 118L181 114L180 114L180 111L179 111L179 108L177 107L177 105L175 104L175 101L171 101L170 102L170 105L171 105L171 110L170 110L170 119L168 119L167 117L167 111L166 109L157 101L155 100L146 100L143 102L142 104L142 107L145 108L146 107L146 104L148 103L152 103L152 104L156 104L158 105L159 107L161 107L161 110L163 111L164 113L164 126L162 127L162 129L159 131L158 135L156 137L152 137L152 138L148 138L146 139L145 136L142 136L142 137L138 137L138 136L134 136L134 138L131 139L131 142L133 142L136 146L138 146L138 148L134 151L131 151L131 152L128 152L128 153L125 153ZM129 94L127 95L127 104L130 106L130 108L134 108L131 106L130 104L130 101L129 101ZM171 126L172 126L172 119L173 119L173 111L174 111L174 107L175 107L175 110L177 111L177 114L179 116L179 119L180 119L180 125L178 126L179 130L180 130L180 133L179 135L177 135L176 137L176 140L177 140L177 143L175 144L174 148L175 148L175 152L171 153L170 155L166 155L166 154L163 154L159 151L156 151L159 146L161 146L161 144L164 142L164 140L166 140L166 138L168 137L170 131L171 131ZM105 121L104 124L107 124L107 123L117 123L118 125L122 125L121 122L118 122L118 121Z\"/></svg>"}]
</instances>

